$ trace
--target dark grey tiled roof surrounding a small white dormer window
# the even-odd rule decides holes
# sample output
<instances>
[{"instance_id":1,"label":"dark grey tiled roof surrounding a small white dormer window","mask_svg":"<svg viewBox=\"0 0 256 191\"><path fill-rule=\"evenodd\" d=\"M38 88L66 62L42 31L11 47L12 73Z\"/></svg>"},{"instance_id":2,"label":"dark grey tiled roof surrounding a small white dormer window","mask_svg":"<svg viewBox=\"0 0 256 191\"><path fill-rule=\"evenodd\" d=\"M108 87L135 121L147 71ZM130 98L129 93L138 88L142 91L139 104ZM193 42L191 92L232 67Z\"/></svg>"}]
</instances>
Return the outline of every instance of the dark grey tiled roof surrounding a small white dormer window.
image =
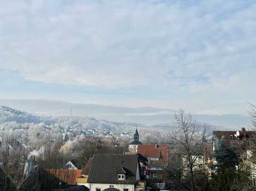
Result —
<instances>
[{"instance_id":1,"label":"dark grey tiled roof surrounding a small white dormer window","mask_svg":"<svg viewBox=\"0 0 256 191\"><path fill-rule=\"evenodd\" d=\"M88 182L135 184L138 165L138 155L95 154L93 155ZM124 169L126 172L125 180L118 180L120 169Z\"/></svg>"}]
</instances>

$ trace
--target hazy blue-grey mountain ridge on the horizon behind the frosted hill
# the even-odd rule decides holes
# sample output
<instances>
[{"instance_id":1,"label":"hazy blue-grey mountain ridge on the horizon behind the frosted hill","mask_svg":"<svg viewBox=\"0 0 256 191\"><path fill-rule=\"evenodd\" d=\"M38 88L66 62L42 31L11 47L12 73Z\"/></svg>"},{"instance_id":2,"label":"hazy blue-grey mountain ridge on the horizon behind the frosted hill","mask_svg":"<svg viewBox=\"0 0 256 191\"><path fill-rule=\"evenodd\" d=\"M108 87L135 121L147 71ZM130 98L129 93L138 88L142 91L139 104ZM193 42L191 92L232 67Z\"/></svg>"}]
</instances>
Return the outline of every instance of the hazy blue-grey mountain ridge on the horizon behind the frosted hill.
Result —
<instances>
[{"instance_id":1,"label":"hazy blue-grey mountain ridge on the horizon behind the frosted hill","mask_svg":"<svg viewBox=\"0 0 256 191\"><path fill-rule=\"evenodd\" d=\"M111 122L132 122L148 126L155 126L161 123L172 123L173 109L162 109L156 107L117 107L103 106L99 104L69 103L49 99L0 99L0 105L25 110L34 115L72 115L91 116L96 119ZM186 111L185 111L186 112ZM223 129L238 129L250 125L250 117L244 115L204 115L192 114L194 119L200 122L223 127Z\"/></svg>"}]
</instances>

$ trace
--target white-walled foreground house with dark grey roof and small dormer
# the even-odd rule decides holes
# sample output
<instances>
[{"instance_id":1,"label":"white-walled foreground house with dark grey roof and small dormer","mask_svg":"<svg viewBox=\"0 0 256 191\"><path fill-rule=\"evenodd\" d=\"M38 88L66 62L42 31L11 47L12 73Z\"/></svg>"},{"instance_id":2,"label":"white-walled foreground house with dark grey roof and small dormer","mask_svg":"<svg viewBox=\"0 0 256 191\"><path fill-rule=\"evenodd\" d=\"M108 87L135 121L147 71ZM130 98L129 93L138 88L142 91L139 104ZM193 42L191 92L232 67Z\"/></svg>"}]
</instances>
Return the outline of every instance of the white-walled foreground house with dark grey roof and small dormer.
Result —
<instances>
[{"instance_id":1,"label":"white-walled foreground house with dark grey roof and small dormer","mask_svg":"<svg viewBox=\"0 0 256 191\"><path fill-rule=\"evenodd\" d=\"M139 191L141 181L138 155L95 154L88 177L90 191Z\"/></svg>"}]
</instances>

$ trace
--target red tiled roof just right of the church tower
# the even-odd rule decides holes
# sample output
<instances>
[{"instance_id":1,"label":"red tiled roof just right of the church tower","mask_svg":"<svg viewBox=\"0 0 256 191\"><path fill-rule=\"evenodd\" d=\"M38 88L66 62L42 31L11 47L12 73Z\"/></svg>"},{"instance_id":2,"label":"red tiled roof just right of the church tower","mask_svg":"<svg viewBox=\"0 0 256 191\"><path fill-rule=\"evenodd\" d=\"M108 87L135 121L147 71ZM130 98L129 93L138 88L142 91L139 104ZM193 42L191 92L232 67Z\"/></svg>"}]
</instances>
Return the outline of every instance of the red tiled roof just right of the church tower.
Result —
<instances>
[{"instance_id":1,"label":"red tiled roof just right of the church tower","mask_svg":"<svg viewBox=\"0 0 256 191\"><path fill-rule=\"evenodd\" d=\"M146 158L159 158L159 163L168 162L169 148L165 145L138 145L137 153Z\"/></svg>"}]
</instances>

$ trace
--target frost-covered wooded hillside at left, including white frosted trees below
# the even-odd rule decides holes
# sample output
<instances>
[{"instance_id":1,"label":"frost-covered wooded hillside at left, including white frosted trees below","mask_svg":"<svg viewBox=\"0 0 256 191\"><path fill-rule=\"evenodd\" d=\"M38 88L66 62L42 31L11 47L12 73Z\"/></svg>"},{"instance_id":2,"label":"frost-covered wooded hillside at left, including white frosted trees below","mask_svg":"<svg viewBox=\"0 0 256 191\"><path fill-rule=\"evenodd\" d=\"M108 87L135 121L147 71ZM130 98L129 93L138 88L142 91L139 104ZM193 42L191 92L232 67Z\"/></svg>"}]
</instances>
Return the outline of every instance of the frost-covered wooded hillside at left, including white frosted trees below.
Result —
<instances>
[{"instance_id":1,"label":"frost-covered wooded hillside at left, including white frosted trees below","mask_svg":"<svg viewBox=\"0 0 256 191\"><path fill-rule=\"evenodd\" d=\"M123 131L134 130L137 126L147 127L137 123L97 120L89 116L39 116L0 106L0 138L11 133L22 143L35 145L47 138L62 142L65 134L69 138L83 136L89 129Z\"/></svg>"}]
</instances>

